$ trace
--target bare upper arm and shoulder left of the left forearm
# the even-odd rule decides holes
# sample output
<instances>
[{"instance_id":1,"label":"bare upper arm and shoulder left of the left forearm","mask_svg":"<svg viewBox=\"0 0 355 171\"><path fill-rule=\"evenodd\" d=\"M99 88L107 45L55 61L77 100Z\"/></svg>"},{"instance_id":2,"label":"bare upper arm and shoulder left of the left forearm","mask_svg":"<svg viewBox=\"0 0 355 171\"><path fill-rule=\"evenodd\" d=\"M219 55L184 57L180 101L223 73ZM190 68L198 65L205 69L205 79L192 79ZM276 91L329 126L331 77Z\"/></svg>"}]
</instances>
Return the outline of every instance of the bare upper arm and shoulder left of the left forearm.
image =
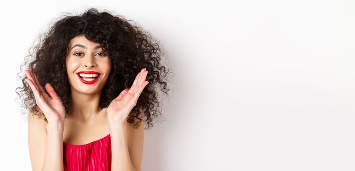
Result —
<instances>
[{"instance_id":1,"label":"bare upper arm and shoulder left of the left forearm","mask_svg":"<svg viewBox=\"0 0 355 171\"><path fill-rule=\"evenodd\" d=\"M47 144L47 123L44 121L44 115L39 107L33 107L28 110L28 151L33 171L42 169L46 154Z\"/></svg>"}]
</instances>

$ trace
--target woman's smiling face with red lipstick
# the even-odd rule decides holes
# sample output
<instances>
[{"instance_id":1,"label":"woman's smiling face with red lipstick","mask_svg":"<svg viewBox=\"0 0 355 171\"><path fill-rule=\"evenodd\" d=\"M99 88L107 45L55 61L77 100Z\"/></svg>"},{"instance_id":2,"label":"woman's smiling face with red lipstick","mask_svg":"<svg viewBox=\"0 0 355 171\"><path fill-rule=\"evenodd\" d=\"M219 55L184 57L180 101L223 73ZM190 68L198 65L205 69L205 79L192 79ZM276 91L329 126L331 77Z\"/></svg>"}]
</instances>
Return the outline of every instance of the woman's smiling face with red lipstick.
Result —
<instances>
[{"instance_id":1,"label":"woman's smiling face with red lipstick","mask_svg":"<svg viewBox=\"0 0 355 171\"><path fill-rule=\"evenodd\" d=\"M90 42L83 35L70 41L65 64L72 91L86 94L101 91L111 70L108 54L99 43Z\"/></svg>"}]
</instances>

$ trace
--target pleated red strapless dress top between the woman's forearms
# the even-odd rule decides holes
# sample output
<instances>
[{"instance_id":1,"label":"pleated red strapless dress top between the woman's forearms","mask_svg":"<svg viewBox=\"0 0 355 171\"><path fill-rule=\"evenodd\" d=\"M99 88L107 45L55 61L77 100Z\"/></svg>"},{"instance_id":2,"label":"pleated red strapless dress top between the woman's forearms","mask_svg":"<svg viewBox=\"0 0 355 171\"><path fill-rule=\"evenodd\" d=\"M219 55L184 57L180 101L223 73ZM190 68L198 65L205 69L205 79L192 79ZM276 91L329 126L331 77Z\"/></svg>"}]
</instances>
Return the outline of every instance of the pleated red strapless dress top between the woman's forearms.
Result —
<instances>
[{"instance_id":1,"label":"pleated red strapless dress top between the woman's forearms","mask_svg":"<svg viewBox=\"0 0 355 171\"><path fill-rule=\"evenodd\" d=\"M111 171L111 137L84 145L63 142L64 171Z\"/></svg>"}]
</instances>

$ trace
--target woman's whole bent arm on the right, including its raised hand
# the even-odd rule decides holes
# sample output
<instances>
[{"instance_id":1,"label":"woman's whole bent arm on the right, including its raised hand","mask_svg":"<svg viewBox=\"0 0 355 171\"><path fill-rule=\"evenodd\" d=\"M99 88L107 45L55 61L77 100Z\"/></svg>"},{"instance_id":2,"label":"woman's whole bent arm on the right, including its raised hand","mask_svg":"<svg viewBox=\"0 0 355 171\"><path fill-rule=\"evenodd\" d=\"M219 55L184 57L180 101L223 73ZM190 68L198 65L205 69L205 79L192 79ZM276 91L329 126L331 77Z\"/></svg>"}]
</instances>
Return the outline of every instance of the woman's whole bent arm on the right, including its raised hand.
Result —
<instances>
[{"instance_id":1,"label":"woman's whole bent arm on the right, including its raised hand","mask_svg":"<svg viewBox=\"0 0 355 171\"><path fill-rule=\"evenodd\" d=\"M107 107L107 119L111 134L111 170L140 171L143 153L144 128L143 121L138 129L127 123L127 116L137 105L138 97L148 85L148 71L143 68L136 76L132 86L121 91ZM143 120L143 110L139 108L139 118ZM136 122L136 118L133 118Z\"/></svg>"}]
</instances>

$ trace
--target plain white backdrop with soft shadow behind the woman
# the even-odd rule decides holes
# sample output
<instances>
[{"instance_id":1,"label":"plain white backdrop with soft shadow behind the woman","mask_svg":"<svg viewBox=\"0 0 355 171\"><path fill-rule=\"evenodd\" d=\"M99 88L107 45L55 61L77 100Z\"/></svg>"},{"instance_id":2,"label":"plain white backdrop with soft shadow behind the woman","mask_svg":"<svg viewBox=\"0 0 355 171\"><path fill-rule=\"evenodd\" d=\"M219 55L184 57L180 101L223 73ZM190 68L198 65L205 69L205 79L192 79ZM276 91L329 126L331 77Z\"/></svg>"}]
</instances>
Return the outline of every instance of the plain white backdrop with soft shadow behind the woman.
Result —
<instances>
[{"instance_id":1,"label":"plain white backdrop with soft shadow behind the woman","mask_svg":"<svg viewBox=\"0 0 355 171\"><path fill-rule=\"evenodd\" d=\"M16 74L65 12L108 9L169 53L142 171L354 171L355 1L2 1L0 170L30 171Z\"/></svg>"}]
</instances>

